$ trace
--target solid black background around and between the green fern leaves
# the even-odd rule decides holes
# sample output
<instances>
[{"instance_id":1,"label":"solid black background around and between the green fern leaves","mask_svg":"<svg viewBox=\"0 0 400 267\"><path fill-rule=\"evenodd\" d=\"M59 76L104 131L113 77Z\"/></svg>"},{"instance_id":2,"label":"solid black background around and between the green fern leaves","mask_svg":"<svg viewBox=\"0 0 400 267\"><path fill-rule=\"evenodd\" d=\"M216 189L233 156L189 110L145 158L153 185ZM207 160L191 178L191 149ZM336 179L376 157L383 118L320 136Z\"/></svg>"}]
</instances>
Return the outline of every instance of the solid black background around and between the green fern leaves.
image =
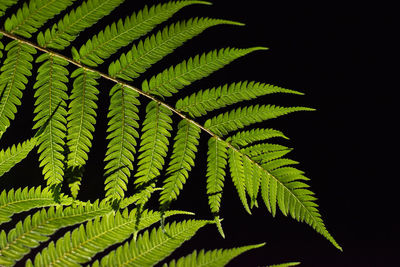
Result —
<instances>
[{"instance_id":1,"label":"solid black background around and between the green fern leaves","mask_svg":"<svg viewBox=\"0 0 400 267\"><path fill-rule=\"evenodd\" d=\"M159 1L127 1L102 20L107 25L116 16ZM209 78L186 88L183 95L240 80L256 80L299 90L305 96L266 96L258 103L316 108L270 121L263 127L282 130L289 138L281 144L293 147L289 155L311 178L327 229L343 247L340 252L306 224L266 208L247 215L234 187L227 179L222 217L226 239L209 226L202 229L174 256L194 248L213 249L267 242L266 246L233 260L230 266L263 266L301 261L302 266L398 266L397 153L398 84L394 60L393 7L384 4L349 4L331 1L214 1L212 6L192 6L171 21L208 16L240 21L245 27L218 26L179 48L154 66L144 78L188 56L215 48L266 46L239 59ZM166 25L166 24L163 24ZM84 34L96 33L94 30ZM79 41L74 45L79 47ZM63 52L69 55L69 51ZM397 69L396 69L397 68ZM106 68L104 69L106 71ZM133 82L140 86L141 80ZM102 81L98 128L80 196L94 199L103 187L105 112L107 90ZM1 146L28 138L31 125L32 90L26 90L15 124ZM173 102L172 100L170 100ZM29 106L30 105L30 106ZM103 110L103 112L101 111ZM19 139L21 140L21 139ZM196 211L209 218L205 197L206 149L203 141L196 167L173 208ZM33 153L0 180L9 188L41 182L37 156ZM260 202L261 204L261 202Z\"/></svg>"}]
</instances>

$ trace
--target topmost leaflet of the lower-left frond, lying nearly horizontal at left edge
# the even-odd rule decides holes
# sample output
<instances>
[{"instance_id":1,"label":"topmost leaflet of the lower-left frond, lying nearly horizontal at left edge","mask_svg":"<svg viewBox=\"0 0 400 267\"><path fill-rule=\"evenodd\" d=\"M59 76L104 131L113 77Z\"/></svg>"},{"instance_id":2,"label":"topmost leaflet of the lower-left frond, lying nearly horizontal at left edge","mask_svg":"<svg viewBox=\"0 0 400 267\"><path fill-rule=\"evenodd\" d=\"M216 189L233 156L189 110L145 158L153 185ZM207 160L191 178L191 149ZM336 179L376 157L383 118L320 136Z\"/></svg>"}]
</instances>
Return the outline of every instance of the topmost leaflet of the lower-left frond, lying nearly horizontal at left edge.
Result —
<instances>
[{"instance_id":1,"label":"topmost leaflet of the lower-left frond, lying nearly horizontal at left edge","mask_svg":"<svg viewBox=\"0 0 400 267\"><path fill-rule=\"evenodd\" d=\"M0 194L0 225L11 220L11 216L34 208L42 208L57 205L69 205L72 198L61 194L58 201L54 192L46 187L25 187L8 192L3 190Z\"/></svg>"}]
</instances>

